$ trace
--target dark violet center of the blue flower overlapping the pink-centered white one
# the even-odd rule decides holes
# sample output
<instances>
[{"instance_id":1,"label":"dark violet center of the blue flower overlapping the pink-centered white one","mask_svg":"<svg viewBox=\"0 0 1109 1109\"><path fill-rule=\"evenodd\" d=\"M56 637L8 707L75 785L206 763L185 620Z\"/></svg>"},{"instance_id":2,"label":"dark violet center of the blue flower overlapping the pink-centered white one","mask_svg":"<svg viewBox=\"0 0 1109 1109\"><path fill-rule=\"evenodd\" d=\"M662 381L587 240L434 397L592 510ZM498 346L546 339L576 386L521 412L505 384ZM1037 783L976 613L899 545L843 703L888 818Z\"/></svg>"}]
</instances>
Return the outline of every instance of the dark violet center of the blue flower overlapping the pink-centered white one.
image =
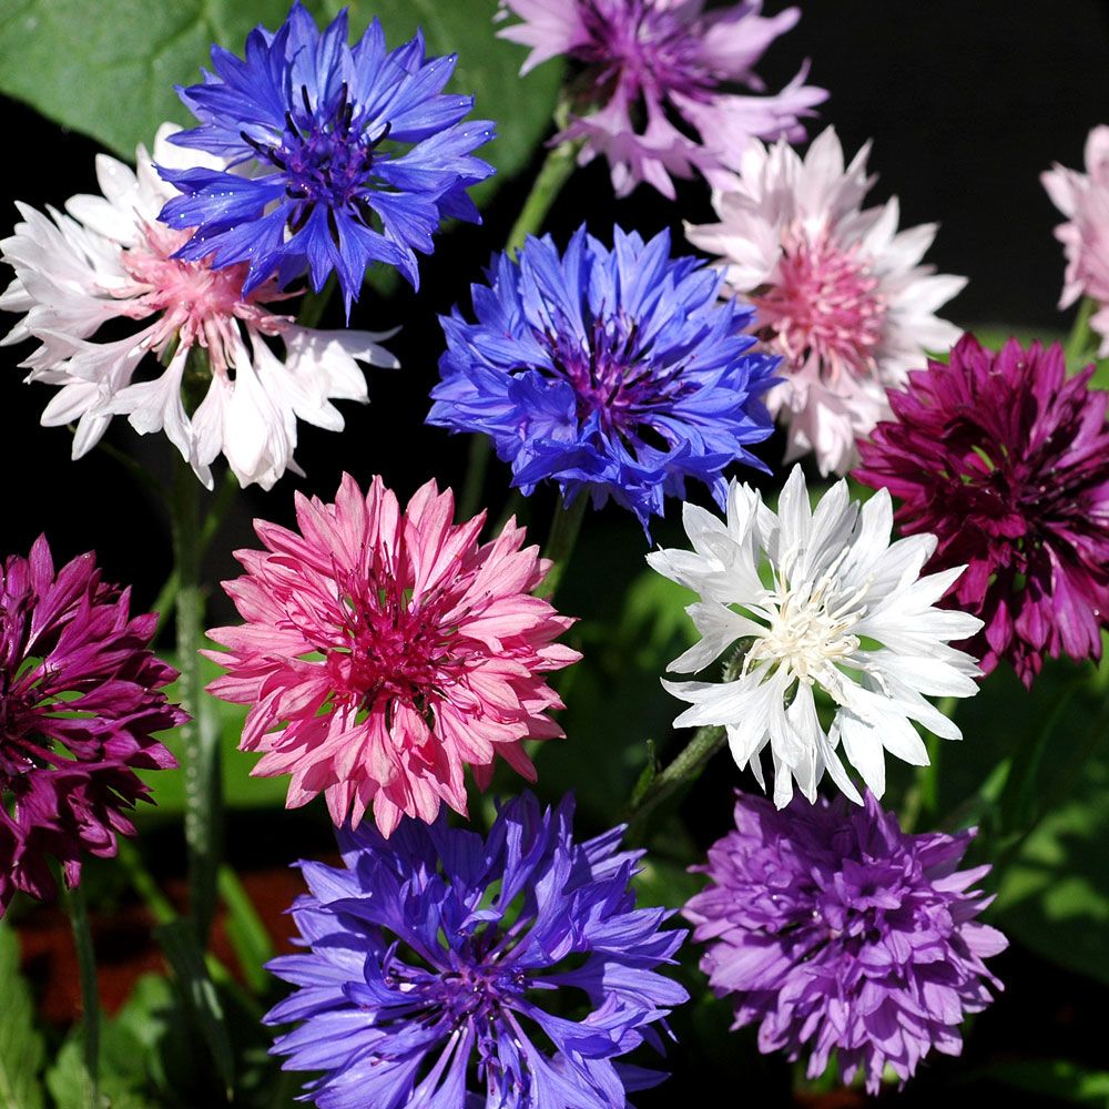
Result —
<instances>
[{"instance_id":1,"label":"dark violet center of the blue flower overlapping the pink-centered white one","mask_svg":"<svg viewBox=\"0 0 1109 1109\"><path fill-rule=\"evenodd\" d=\"M335 208L349 208L370 226L373 210L363 197L370 185L377 147L388 138L390 124L376 134L366 131L365 116L355 116L347 85L333 102L313 109L306 87L301 88L304 111L285 113L285 130L273 145L256 142L243 132L258 155L273 163L285 177L285 192L297 202L289 217L294 233L307 222L317 204L327 207L328 226L338 238Z\"/></svg>"}]
</instances>

